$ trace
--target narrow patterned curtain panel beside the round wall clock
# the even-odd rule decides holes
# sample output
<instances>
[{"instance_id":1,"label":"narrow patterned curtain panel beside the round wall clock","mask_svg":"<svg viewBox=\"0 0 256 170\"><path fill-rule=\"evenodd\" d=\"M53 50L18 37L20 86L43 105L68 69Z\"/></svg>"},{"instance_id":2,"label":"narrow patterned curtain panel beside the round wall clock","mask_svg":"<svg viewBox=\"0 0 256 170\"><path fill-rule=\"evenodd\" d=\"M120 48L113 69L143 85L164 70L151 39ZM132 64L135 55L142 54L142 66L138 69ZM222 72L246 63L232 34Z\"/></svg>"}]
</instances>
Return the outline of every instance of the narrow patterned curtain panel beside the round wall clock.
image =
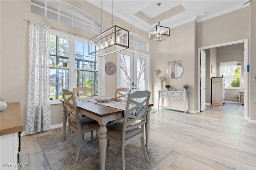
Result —
<instances>
[{"instance_id":1,"label":"narrow patterned curtain panel beside the round wall clock","mask_svg":"<svg viewBox=\"0 0 256 170\"><path fill-rule=\"evenodd\" d=\"M98 57L98 96L105 96L105 57Z\"/></svg>"}]
</instances>

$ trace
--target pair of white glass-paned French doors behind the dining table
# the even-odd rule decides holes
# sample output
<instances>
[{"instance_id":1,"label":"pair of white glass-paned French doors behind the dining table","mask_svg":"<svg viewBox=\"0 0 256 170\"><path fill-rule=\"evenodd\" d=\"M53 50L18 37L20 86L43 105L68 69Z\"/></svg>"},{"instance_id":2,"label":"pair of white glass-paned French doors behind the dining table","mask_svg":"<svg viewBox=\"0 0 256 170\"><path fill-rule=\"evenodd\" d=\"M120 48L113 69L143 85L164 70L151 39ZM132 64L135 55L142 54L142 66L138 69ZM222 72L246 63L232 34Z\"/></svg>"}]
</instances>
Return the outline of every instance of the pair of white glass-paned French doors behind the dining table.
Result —
<instances>
[{"instance_id":1,"label":"pair of white glass-paned French doors behind the dining table","mask_svg":"<svg viewBox=\"0 0 256 170\"><path fill-rule=\"evenodd\" d=\"M148 89L148 56L134 51L118 52L118 88L134 91Z\"/></svg>"}]
</instances>

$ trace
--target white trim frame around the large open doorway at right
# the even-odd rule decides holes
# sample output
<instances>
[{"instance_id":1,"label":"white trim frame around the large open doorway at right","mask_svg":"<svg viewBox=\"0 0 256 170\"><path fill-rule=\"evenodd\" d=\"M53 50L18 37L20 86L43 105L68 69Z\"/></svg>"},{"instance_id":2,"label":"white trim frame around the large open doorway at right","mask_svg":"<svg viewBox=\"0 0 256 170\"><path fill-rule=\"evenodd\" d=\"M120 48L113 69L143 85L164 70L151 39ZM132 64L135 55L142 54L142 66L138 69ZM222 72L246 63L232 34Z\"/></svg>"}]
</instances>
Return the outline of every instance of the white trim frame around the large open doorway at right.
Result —
<instances>
[{"instance_id":1,"label":"white trim frame around the large open doorway at right","mask_svg":"<svg viewBox=\"0 0 256 170\"><path fill-rule=\"evenodd\" d=\"M221 47L226 45L233 45L237 43L244 43L244 119L248 119L248 74L247 74L247 65L248 65L248 39L237 40L233 42L220 43L215 45L209 45L205 47L199 47L197 49L197 109L200 110L200 51L203 49Z\"/></svg>"}]
</instances>

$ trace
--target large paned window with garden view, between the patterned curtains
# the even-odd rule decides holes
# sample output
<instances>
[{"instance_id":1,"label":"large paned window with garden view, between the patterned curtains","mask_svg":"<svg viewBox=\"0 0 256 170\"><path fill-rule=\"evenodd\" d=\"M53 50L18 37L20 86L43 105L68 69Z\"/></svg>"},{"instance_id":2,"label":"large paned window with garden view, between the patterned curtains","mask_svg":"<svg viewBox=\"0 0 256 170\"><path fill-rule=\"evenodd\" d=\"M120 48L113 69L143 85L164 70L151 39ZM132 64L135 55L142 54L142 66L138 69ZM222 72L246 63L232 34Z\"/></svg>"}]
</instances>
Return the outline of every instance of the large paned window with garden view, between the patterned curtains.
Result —
<instances>
[{"instance_id":1,"label":"large paned window with garden view, between the patterned curtains","mask_svg":"<svg viewBox=\"0 0 256 170\"><path fill-rule=\"evenodd\" d=\"M69 51L70 43L74 43L75 52ZM70 60L75 65L70 65ZM72 75L71 70L75 70ZM50 98L62 99L62 89L74 87L90 87L93 96L98 95L98 67L95 56L88 54L88 43L70 42L64 38L50 34ZM70 76L73 76L69 87ZM71 81L72 81L71 80Z\"/></svg>"}]
</instances>

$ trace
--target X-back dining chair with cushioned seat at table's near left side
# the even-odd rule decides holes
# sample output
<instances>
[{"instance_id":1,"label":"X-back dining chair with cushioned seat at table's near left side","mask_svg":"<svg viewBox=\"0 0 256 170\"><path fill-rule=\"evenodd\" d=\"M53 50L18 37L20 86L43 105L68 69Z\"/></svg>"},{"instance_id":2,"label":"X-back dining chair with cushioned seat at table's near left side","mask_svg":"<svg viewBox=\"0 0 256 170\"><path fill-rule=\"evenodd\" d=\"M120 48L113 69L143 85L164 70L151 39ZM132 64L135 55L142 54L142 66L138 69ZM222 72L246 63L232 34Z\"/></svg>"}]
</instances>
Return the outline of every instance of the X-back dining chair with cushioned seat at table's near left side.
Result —
<instances>
[{"instance_id":1,"label":"X-back dining chair with cushioned seat at table's near left side","mask_svg":"<svg viewBox=\"0 0 256 170\"><path fill-rule=\"evenodd\" d=\"M78 114L79 111L76 104L76 97L75 97L74 91L70 91L68 89L62 89L62 96L64 99L64 105L66 107L66 113L68 117L68 136L66 139L64 149L66 149L68 146L71 130L73 130L77 135L76 157L75 157L75 161L77 161L79 157L79 152L80 152L81 135L84 133L99 129L100 125L98 124L97 121L94 121L89 117L80 118Z\"/></svg>"}]
</instances>

